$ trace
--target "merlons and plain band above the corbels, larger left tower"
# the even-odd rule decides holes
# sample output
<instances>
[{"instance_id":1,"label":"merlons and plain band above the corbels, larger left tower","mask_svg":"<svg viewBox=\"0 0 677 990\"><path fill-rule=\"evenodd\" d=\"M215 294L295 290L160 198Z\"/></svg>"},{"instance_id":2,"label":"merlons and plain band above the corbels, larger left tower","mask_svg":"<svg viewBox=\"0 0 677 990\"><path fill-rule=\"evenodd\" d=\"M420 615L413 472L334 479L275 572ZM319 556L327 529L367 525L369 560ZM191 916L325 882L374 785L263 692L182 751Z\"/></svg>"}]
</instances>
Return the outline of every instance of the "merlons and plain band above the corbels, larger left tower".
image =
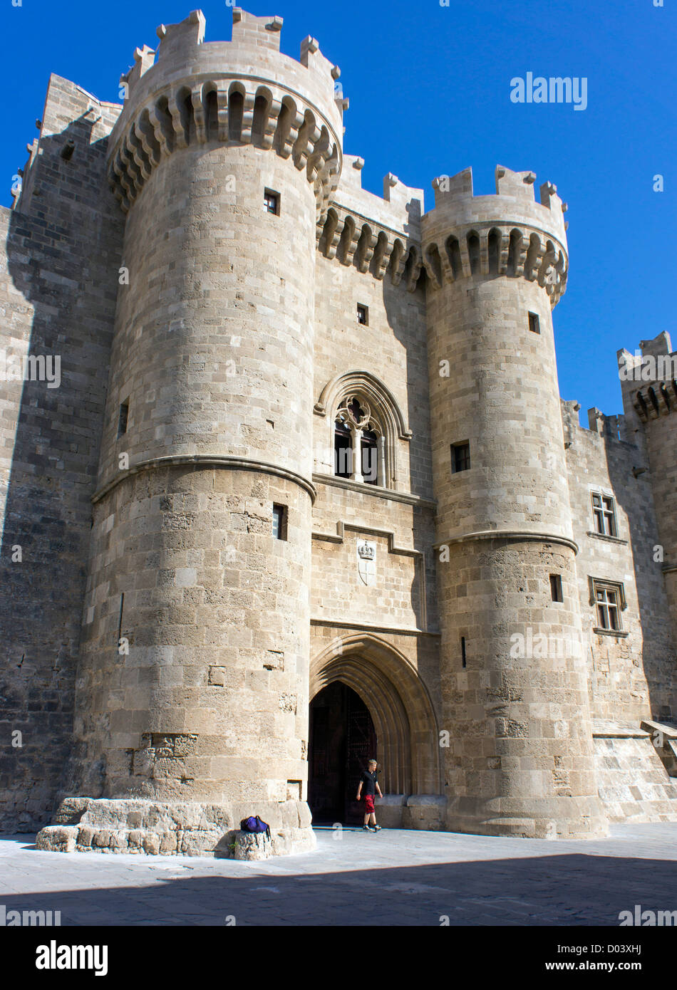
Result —
<instances>
[{"instance_id":1,"label":"merlons and plain band above the corbels, larger left tower","mask_svg":"<svg viewBox=\"0 0 677 990\"><path fill-rule=\"evenodd\" d=\"M204 14L194 10L178 24L160 25L157 50L146 45L135 50L135 64L121 77L127 93L111 148L120 144L144 106L161 96L170 97L186 86L195 94L211 83L222 87L227 98L230 86L241 83L253 93L268 86L274 98L286 94L299 110L311 108L317 125L327 126L340 152L348 101L335 92L339 67L313 38L301 42L298 60L291 58L280 51L282 18L256 17L240 7L233 8L230 42L205 42L205 29Z\"/></svg>"}]
</instances>

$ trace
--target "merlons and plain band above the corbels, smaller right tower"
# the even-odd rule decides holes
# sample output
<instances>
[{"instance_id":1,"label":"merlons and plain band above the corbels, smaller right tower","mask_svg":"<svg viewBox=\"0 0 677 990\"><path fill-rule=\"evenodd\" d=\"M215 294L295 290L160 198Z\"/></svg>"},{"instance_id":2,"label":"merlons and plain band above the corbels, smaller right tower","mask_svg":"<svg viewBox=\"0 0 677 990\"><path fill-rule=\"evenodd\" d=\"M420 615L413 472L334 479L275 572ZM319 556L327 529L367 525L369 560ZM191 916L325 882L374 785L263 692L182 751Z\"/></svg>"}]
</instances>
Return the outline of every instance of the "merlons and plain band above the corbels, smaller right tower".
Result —
<instances>
[{"instance_id":1,"label":"merlons and plain band above the corbels, smaller right tower","mask_svg":"<svg viewBox=\"0 0 677 990\"><path fill-rule=\"evenodd\" d=\"M438 240L445 229L486 226L527 227L554 238L566 253L566 203L557 195L557 187L544 182L540 203L534 198L533 172L513 172L503 165L496 168L496 195L473 195L473 170L465 168L456 175L440 175L433 180L435 206L423 217L423 230Z\"/></svg>"}]
</instances>

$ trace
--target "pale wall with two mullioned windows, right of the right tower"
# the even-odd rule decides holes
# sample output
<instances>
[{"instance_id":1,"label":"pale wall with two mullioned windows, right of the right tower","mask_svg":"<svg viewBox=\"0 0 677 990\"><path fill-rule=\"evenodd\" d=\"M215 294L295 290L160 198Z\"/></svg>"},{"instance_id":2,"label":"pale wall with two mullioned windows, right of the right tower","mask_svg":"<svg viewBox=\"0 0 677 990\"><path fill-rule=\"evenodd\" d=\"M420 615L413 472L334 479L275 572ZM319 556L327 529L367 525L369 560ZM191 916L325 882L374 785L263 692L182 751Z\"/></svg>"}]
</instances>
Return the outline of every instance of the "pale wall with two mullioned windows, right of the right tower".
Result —
<instances>
[{"instance_id":1,"label":"pale wall with two mullioned windows, right of the right tower","mask_svg":"<svg viewBox=\"0 0 677 990\"><path fill-rule=\"evenodd\" d=\"M593 716L634 724L651 713L669 717L675 711L675 652L661 563L654 560L659 538L652 474L641 446L619 437L618 421L591 410L586 430L574 402L562 403L562 416ZM614 497L618 537L596 532L593 492ZM623 585L619 635L594 632L593 577Z\"/></svg>"}]
</instances>

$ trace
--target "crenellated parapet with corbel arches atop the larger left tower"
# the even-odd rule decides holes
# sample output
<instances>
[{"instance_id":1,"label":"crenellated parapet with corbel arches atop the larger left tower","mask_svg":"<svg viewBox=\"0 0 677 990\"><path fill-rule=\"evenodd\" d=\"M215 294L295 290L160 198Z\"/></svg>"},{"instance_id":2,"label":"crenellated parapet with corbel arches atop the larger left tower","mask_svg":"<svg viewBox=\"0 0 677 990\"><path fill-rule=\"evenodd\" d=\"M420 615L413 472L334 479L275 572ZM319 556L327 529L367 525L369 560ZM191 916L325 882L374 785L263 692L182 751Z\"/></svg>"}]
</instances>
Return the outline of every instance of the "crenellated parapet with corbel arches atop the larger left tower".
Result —
<instances>
[{"instance_id":1,"label":"crenellated parapet with corbel arches atop the larger left tower","mask_svg":"<svg viewBox=\"0 0 677 990\"><path fill-rule=\"evenodd\" d=\"M317 42L306 38L295 61L280 51L281 29L282 18L236 7L232 41L205 43L204 15L193 11L158 28L157 52L135 50L108 156L109 183L125 212L165 157L219 142L289 158L312 184L323 222L341 172L348 101L336 95L340 69Z\"/></svg>"}]
</instances>

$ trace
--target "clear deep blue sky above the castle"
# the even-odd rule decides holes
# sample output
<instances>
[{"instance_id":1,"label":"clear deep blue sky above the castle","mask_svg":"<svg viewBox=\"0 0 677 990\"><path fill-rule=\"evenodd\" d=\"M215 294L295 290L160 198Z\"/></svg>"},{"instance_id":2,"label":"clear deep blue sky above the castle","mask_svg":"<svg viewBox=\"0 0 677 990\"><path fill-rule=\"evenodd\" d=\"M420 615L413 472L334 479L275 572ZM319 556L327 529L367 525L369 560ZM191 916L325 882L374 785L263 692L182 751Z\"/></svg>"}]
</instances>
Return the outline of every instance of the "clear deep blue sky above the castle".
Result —
<instances>
[{"instance_id":1,"label":"clear deep blue sky above the castle","mask_svg":"<svg viewBox=\"0 0 677 990\"><path fill-rule=\"evenodd\" d=\"M156 28L182 20L190 0L4 0L2 193L37 135L51 71L118 100L120 73ZM17 0L14 0L17 2ZM619 347L663 330L677 348L674 166L677 138L675 0L249 0L284 20L282 50L298 57L312 35L341 66L344 149L365 159L363 184L383 176L425 190L473 166L475 193L494 192L498 163L550 179L569 204L570 279L555 310L560 390L585 411L621 412ZM231 9L205 0L206 41L230 38ZM588 79L588 106L514 104L510 79L527 72ZM664 191L654 192L655 174Z\"/></svg>"}]
</instances>

